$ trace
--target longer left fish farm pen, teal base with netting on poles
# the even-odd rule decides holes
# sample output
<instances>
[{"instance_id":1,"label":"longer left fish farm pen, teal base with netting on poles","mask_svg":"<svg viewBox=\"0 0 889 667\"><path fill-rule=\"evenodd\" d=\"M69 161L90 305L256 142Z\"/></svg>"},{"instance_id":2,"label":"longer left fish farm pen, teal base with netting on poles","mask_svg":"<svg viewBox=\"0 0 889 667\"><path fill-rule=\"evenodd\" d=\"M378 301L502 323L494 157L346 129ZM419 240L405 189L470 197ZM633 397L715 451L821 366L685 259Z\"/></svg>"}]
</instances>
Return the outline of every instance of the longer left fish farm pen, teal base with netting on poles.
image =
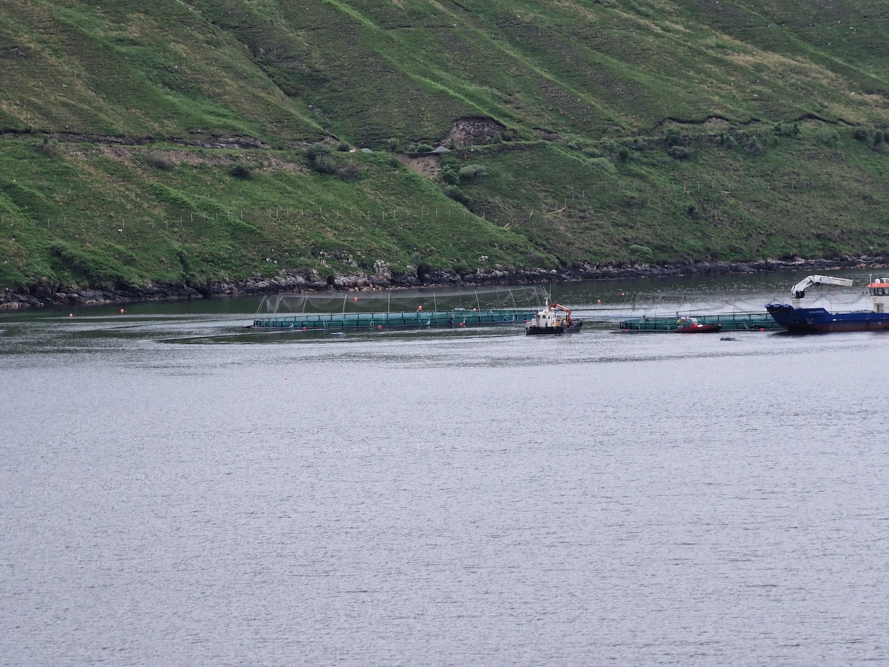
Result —
<instances>
[{"instance_id":1,"label":"longer left fish farm pen, teal base with netting on poles","mask_svg":"<svg viewBox=\"0 0 889 667\"><path fill-rule=\"evenodd\" d=\"M274 294L257 329L340 330L525 325L549 301L540 286Z\"/></svg>"}]
</instances>

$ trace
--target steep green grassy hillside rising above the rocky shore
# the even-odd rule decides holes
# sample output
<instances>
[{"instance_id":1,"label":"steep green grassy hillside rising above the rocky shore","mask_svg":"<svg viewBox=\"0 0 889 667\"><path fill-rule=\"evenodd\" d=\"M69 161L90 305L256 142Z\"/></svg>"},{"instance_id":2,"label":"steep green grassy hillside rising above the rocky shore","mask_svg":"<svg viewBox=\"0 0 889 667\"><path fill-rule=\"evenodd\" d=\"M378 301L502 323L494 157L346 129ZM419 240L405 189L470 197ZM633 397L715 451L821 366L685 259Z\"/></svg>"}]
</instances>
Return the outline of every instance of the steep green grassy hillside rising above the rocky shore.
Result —
<instances>
[{"instance_id":1,"label":"steep green grassy hillside rising above the rocky shore","mask_svg":"<svg viewBox=\"0 0 889 667\"><path fill-rule=\"evenodd\" d=\"M877 0L5 0L0 286L889 253L887 26Z\"/></svg>"}]
</instances>

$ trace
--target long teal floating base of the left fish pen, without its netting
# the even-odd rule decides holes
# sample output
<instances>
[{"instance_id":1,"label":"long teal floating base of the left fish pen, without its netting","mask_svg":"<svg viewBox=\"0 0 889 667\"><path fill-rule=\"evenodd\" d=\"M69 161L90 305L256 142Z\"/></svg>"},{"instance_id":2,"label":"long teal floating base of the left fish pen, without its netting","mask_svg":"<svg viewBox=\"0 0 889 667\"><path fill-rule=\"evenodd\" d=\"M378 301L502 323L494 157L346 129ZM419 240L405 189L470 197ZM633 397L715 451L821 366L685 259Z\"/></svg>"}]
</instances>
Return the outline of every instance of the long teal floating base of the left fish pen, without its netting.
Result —
<instances>
[{"instance_id":1,"label":"long teal floating base of the left fish pen, without its netting","mask_svg":"<svg viewBox=\"0 0 889 667\"><path fill-rule=\"evenodd\" d=\"M263 317L254 328L272 329L390 329L427 326L478 326L525 324L537 309L407 310L378 313L317 313Z\"/></svg>"}]
</instances>

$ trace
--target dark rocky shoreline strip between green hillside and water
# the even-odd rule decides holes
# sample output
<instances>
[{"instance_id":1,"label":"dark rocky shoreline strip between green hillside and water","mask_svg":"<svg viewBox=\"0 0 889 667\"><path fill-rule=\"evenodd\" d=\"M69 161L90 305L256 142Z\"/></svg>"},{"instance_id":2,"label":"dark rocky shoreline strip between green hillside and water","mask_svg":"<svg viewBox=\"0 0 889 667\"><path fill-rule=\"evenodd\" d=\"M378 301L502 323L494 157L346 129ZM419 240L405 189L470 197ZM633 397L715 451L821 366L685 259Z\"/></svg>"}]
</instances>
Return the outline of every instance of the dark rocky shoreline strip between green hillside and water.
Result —
<instances>
[{"instance_id":1,"label":"dark rocky shoreline strip between green hillside and water","mask_svg":"<svg viewBox=\"0 0 889 667\"><path fill-rule=\"evenodd\" d=\"M276 277L253 277L231 282L200 284L148 284L135 289L82 289L62 291L58 285L38 283L27 291L4 289L0 309L47 306L100 305L135 301L169 301L225 298L280 293L356 292L408 287L461 285L531 285L579 280L614 280L642 277L693 277L773 273L778 271L827 271L836 269L887 269L889 256L845 256L833 260L703 261L692 264L583 264L570 269L478 269L465 275L453 271L420 269L416 273L333 275L316 271L283 273Z\"/></svg>"}]
</instances>

